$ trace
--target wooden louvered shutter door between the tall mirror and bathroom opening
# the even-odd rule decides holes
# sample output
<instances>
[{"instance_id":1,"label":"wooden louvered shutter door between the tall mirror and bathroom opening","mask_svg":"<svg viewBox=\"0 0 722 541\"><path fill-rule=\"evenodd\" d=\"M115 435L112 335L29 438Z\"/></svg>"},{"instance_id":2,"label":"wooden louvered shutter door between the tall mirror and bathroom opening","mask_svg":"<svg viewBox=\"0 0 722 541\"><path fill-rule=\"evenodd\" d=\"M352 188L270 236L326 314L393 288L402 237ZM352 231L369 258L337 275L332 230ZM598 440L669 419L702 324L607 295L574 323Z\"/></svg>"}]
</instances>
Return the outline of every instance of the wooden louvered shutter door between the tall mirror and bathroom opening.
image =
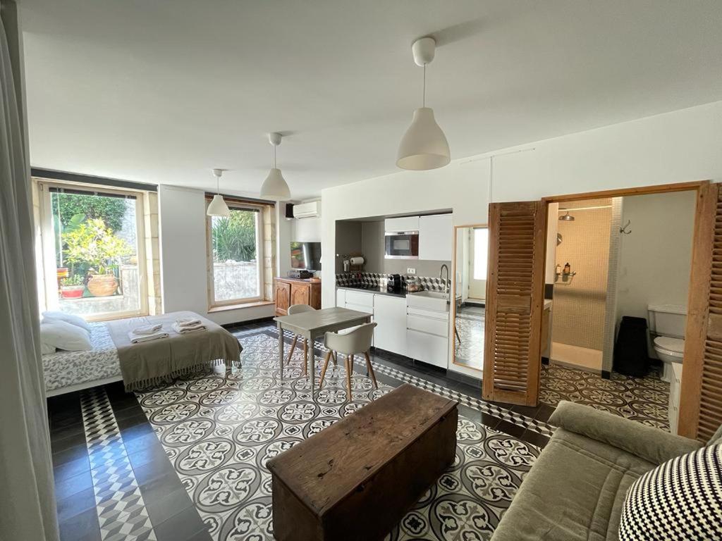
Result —
<instances>
[{"instance_id":1,"label":"wooden louvered shutter door between the tall mirror and bathroom opening","mask_svg":"<svg viewBox=\"0 0 722 541\"><path fill-rule=\"evenodd\" d=\"M537 403L546 222L541 201L489 206L485 400Z\"/></svg>"}]
</instances>

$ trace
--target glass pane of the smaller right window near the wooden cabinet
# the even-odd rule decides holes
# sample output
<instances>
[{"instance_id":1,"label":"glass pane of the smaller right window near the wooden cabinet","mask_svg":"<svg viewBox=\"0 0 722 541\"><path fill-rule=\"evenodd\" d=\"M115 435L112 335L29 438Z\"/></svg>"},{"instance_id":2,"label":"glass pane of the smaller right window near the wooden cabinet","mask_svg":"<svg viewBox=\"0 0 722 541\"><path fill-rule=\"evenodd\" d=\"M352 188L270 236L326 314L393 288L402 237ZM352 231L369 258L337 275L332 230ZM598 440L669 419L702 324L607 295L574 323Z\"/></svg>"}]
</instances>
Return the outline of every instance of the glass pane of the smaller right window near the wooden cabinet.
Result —
<instances>
[{"instance_id":1,"label":"glass pane of the smaller right window near the wooden cabinet","mask_svg":"<svg viewBox=\"0 0 722 541\"><path fill-rule=\"evenodd\" d=\"M208 218L210 307L259 301L264 294L261 207L229 208L227 218Z\"/></svg>"}]
</instances>

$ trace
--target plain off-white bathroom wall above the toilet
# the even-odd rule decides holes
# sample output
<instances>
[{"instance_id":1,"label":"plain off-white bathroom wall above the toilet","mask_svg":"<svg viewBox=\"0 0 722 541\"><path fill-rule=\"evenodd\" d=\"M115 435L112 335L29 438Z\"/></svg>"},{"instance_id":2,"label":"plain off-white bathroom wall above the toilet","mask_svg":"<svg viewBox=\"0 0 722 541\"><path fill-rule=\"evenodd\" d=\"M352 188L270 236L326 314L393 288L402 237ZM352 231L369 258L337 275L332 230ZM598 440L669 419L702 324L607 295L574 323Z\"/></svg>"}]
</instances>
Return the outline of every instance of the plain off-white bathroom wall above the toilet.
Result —
<instances>
[{"instance_id":1,"label":"plain off-white bathroom wall above the toilet","mask_svg":"<svg viewBox=\"0 0 722 541\"><path fill-rule=\"evenodd\" d=\"M656 193L623 198L617 276L617 322L647 317L648 304L687 305L695 223L695 192Z\"/></svg>"}]
</instances>

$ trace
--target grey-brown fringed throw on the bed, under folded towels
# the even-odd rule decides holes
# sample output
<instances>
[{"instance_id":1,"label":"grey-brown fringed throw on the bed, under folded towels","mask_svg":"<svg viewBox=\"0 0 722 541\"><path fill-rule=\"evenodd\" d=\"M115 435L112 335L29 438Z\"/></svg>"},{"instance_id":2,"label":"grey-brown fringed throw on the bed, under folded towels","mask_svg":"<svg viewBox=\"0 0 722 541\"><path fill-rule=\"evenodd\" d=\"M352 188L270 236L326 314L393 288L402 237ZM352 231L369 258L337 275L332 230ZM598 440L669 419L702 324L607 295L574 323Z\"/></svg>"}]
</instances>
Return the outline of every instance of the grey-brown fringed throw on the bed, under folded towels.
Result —
<instances>
[{"instance_id":1,"label":"grey-brown fringed throw on the bed, under folded towels","mask_svg":"<svg viewBox=\"0 0 722 541\"><path fill-rule=\"evenodd\" d=\"M172 325L183 317L197 317L206 330L176 333ZM128 333L137 327L160 323L170 336L131 343ZM220 325L194 312L131 317L109 321L108 331L118 349L126 392L170 382L173 378L222 363L240 363L238 339Z\"/></svg>"}]
</instances>

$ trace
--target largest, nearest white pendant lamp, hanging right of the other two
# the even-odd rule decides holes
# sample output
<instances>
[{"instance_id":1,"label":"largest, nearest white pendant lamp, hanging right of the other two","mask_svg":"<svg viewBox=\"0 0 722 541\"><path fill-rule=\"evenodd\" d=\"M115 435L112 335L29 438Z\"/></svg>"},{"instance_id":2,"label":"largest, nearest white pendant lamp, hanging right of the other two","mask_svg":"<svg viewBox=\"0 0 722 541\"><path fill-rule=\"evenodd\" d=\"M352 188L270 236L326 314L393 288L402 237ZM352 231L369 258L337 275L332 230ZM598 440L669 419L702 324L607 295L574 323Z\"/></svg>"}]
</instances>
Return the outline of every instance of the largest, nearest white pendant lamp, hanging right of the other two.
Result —
<instances>
[{"instance_id":1,"label":"largest, nearest white pendant lamp, hanging right of the other two","mask_svg":"<svg viewBox=\"0 0 722 541\"><path fill-rule=\"evenodd\" d=\"M444 132L434 119L434 110L426 107L426 65L434 59L434 38L420 38L412 45L414 62L424 68L422 107L414 111L411 126L399 145L396 165L401 169L422 171L443 167L451 162L451 151Z\"/></svg>"}]
</instances>

